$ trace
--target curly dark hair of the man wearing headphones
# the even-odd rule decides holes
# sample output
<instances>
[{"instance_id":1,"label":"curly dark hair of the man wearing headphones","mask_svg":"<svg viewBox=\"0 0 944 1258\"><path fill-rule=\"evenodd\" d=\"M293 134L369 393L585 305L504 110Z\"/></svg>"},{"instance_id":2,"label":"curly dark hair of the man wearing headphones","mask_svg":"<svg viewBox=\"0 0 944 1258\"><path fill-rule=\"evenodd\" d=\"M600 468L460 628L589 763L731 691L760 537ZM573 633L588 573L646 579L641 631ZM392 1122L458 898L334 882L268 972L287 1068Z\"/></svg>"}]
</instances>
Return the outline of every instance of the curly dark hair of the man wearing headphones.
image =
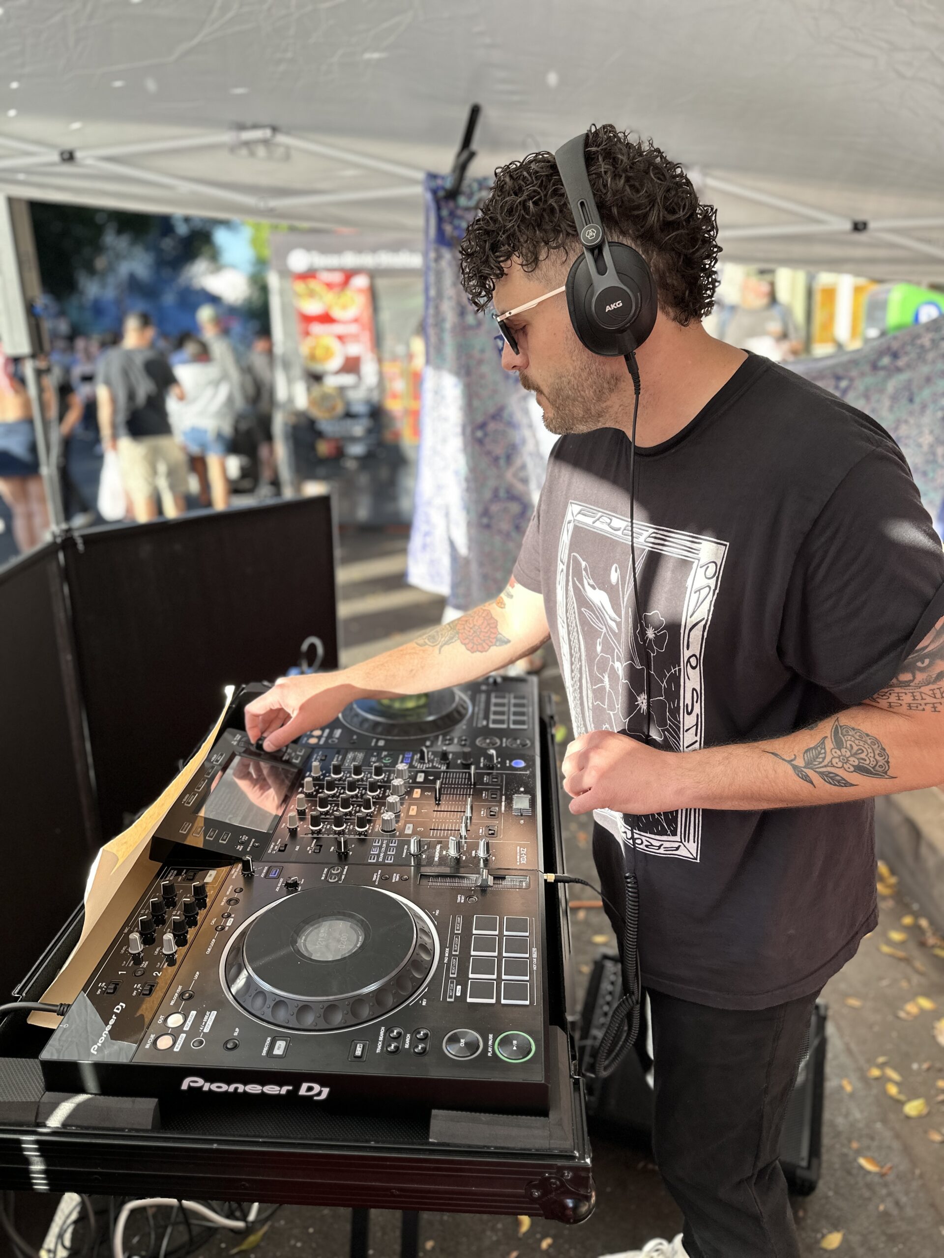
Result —
<instances>
[{"instance_id":1,"label":"curly dark hair of the man wearing headphones","mask_svg":"<svg viewBox=\"0 0 944 1258\"><path fill-rule=\"evenodd\" d=\"M683 327L705 318L721 252L714 205L700 204L683 169L651 140L634 141L612 123L590 127L584 153L607 237L646 258L665 314ZM576 240L554 153L529 153L496 170L459 245L462 286L481 311L511 258L532 272L553 253L563 262L575 255Z\"/></svg>"}]
</instances>

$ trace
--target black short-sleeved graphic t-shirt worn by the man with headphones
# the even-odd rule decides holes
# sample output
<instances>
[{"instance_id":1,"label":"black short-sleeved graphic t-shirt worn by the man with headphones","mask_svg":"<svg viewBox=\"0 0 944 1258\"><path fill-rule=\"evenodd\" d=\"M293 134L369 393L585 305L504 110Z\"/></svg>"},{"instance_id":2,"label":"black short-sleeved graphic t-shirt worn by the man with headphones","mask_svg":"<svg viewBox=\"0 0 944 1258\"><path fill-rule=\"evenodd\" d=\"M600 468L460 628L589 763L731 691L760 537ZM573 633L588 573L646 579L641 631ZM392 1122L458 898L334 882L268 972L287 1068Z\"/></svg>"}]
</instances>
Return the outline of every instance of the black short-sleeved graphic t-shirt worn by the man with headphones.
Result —
<instances>
[{"instance_id":1,"label":"black short-sleeved graphic t-shirt worn by the man with headphones","mask_svg":"<svg viewBox=\"0 0 944 1258\"><path fill-rule=\"evenodd\" d=\"M750 355L680 433L637 452L637 625L629 449L617 429L558 442L515 566L544 595L574 736L644 731L646 655L655 746L779 736L875 694L944 615L944 554L897 445ZM631 830L594 820L622 905ZM658 991L792 1000L876 925L871 800L633 827L642 975Z\"/></svg>"}]
</instances>

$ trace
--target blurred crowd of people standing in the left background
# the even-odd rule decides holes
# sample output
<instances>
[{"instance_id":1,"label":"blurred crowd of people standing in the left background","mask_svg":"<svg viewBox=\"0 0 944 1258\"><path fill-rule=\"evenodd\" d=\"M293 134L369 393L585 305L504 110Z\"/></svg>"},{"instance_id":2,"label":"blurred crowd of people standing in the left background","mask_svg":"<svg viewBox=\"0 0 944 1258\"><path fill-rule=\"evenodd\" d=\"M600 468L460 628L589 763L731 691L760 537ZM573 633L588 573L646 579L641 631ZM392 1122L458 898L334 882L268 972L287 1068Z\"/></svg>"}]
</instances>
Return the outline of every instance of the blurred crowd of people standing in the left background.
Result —
<instances>
[{"instance_id":1,"label":"blurred crowd of people standing in the left background","mask_svg":"<svg viewBox=\"0 0 944 1258\"><path fill-rule=\"evenodd\" d=\"M278 492L272 341L259 335L239 356L214 306L201 306L193 332L176 343L160 337L146 312L132 311L121 338L58 341L38 369L49 464L73 527L98 518L98 492L83 491L73 474L69 448L76 438L93 445L99 473L120 477L123 512L120 502L110 518L177 516L188 508L191 484L201 507L225 509L234 463L252 467L257 496ZM228 462L233 454L238 458ZM23 364L6 357L1 346L0 497L18 550L42 542L49 513L33 406Z\"/></svg>"}]
</instances>

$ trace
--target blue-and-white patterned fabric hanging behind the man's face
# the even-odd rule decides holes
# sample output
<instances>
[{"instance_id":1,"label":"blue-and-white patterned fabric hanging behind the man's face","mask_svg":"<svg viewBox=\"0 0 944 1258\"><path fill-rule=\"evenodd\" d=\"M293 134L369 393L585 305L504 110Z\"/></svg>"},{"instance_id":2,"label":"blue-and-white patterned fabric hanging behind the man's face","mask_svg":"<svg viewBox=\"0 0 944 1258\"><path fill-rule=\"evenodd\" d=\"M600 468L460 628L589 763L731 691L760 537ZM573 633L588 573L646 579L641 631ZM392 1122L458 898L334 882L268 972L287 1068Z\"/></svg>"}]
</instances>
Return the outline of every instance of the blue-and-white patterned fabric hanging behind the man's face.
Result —
<instances>
[{"instance_id":1,"label":"blue-and-white patterned fabric hanging behind the man's face","mask_svg":"<svg viewBox=\"0 0 944 1258\"><path fill-rule=\"evenodd\" d=\"M468 610L505 586L537 501L546 447L534 403L502 371L497 328L459 283L456 247L490 180L425 184L425 342L410 585ZM544 447L544 448L542 448Z\"/></svg>"}]
</instances>

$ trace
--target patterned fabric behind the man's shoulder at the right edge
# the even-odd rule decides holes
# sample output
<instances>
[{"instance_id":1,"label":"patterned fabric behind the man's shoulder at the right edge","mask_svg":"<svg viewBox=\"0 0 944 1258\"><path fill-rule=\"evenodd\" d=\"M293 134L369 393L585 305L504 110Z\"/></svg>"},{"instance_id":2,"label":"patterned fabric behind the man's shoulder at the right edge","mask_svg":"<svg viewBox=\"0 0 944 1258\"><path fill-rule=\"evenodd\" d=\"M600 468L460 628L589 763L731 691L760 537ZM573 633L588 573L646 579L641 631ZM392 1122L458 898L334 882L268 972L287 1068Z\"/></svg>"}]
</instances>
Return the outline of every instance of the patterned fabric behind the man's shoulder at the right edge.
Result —
<instances>
[{"instance_id":1,"label":"patterned fabric behind the man's shoulder at the right edge","mask_svg":"<svg viewBox=\"0 0 944 1258\"><path fill-rule=\"evenodd\" d=\"M879 420L901 447L921 501L944 531L944 318L828 359L792 362Z\"/></svg>"}]
</instances>

